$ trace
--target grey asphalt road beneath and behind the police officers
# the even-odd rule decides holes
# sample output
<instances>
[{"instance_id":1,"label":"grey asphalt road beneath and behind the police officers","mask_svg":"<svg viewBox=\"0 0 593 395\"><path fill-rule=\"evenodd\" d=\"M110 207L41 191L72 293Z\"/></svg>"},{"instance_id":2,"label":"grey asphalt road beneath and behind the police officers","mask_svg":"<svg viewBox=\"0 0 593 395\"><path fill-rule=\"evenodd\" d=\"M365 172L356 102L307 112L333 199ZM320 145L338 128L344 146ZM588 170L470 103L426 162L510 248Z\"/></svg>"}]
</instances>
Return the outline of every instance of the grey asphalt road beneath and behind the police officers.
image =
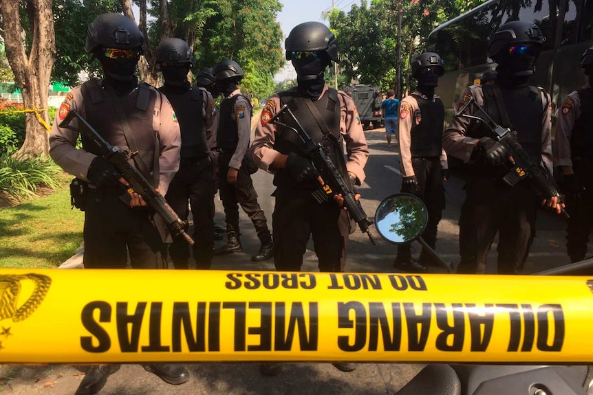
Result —
<instances>
[{"instance_id":1,"label":"grey asphalt road beneath and behind the police officers","mask_svg":"<svg viewBox=\"0 0 593 395\"><path fill-rule=\"evenodd\" d=\"M360 188L363 208L368 216L374 216L382 199L398 192L401 184L397 147L387 148L383 129L367 131L371 156L366 167L367 179ZM253 179L259 194L259 203L269 220L274 207L272 176L263 171ZM460 207L464 199L460 174L453 174L446 183L446 210L440 223L437 251L444 260L458 261L458 227ZM222 204L217 200L217 222L224 223ZM565 225L559 216L541 212L538 218L537 238L526 265L526 273L568 264L565 254ZM376 231L373 229L376 234ZM251 262L250 256L259 249L247 216L241 212L241 241L244 251L229 256L219 256L213 269L273 270L272 261ZM373 246L366 234L351 235L347 271L389 272L396 253L394 245L380 239ZM217 242L217 247L223 242ZM593 251L590 245L590 251ZM420 252L420 245L413 245L413 253ZM489 256L487 272L495 271L495 244ZM312 248L306 253L303 271L316 271L316 258ZM125 365L111 376L100 394L394 394L418 372L422 365L397 363L359 364L354 372L343 373L329 363L286 364L283 374L263 377L255 363L195 363L188 365L191 379L184 385L172 386L153 374L145 372L140 365ZM83 379L85 367L71 365L10 366L0 367L0 392L7 395L74 394Z\"/></svg>"}]
</instances>

